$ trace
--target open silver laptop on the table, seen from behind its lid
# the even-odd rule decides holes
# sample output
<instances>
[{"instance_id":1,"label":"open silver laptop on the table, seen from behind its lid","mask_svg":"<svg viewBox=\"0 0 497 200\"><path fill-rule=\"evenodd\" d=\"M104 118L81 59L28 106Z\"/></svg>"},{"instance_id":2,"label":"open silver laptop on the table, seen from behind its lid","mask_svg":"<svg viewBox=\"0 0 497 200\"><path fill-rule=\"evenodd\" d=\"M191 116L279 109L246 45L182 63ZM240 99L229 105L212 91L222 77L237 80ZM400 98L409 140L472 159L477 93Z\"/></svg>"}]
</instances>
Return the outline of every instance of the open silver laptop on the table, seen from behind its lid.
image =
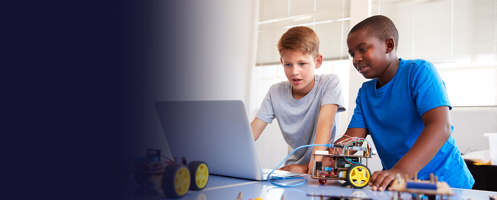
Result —
<instances>
[{"instance_id":1,"label":"open silver laptop on the table, seen from behind its lid","mask_svg":"<svg viewBox=\"0 0 497 200\"><path fill-rule=\"evenodd\" d=\"M173 156L205 161L211 174L267 179L272 169L260 168L241 100L156 101L155 106ZM301 174L277 170L271 176Z\"/></svg>"}]
</instances>

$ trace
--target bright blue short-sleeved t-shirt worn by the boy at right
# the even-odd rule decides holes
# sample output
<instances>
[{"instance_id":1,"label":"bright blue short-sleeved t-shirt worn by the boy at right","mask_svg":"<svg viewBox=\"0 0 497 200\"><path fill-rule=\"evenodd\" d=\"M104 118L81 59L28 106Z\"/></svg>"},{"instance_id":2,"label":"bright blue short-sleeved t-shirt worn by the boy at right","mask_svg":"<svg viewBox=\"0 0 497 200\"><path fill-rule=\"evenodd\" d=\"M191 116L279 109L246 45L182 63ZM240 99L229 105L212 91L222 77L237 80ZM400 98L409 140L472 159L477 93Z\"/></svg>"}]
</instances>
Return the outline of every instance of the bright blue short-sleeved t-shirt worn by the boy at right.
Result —
<instances>
[{"instance_id":1,"label":"bright blue short-sleeved t-shirt worn by the boy at right","mask_svg":"<svg viewBox=\"0 0 497 200\"><path fill-rule=\"evenodd\" d=\"M376 79L362 84L348 125L368 129L387 170L413 147L424 129L421 115L444 105L452 109L445 84L433 64L422 59L399 60L394 78L380 89L376 89ZM429 180L430 173L452 188L471 189L475 183L452 136L417 177Z\"/></svg>"}]
</instances>

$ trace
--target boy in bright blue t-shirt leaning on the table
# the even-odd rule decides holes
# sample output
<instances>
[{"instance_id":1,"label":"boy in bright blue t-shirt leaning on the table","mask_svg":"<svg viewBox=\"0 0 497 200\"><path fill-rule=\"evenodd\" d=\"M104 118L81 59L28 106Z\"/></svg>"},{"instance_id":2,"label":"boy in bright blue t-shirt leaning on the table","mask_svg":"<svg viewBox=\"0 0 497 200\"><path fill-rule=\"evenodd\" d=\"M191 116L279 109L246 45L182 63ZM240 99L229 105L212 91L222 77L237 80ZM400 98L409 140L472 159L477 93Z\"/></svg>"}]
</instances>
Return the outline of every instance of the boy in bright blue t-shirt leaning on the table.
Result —
<instances>
[{"instance_id":1,"label":"boy in bright blue t-shirt leaning on the table","mask_svg":"<svg viewBox=\"0 0 497 200\"><path fill-rule=\"evenodd\" d=\"M354 68L372 79L359 89L345 132L373 139L383 170L371 175L369 186L384 191L397 174L429 180L434 173L450 187L471 189L475 180L451 136L445 85L430 62L398 58L398 40L394 23L382 15L361 21L347 36Z\"/></svg>"}]
</instances>

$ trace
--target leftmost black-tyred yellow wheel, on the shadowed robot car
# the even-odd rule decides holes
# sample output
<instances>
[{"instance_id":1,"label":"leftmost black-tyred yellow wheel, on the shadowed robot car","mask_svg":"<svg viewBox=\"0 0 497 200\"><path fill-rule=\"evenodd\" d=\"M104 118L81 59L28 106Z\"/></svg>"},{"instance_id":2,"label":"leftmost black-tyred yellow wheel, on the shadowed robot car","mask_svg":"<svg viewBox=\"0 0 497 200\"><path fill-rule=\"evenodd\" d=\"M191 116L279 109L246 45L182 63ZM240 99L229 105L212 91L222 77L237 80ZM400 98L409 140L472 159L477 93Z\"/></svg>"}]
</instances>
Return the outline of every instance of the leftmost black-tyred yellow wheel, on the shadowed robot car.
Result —
<instances>
[{"instance_id":1,"label":"leftmost black-tyred yellow wheel, on the shadowed robot car","mask_svg":"<svg viewBox=\"0 0 497 200\"><path fill-rule=\"evenodd\" d=\"M162 178L164 194L170 198L180 198L190 188L190 171L185 165L175 164L168 166Z\"/></svg>"}]
</instances>

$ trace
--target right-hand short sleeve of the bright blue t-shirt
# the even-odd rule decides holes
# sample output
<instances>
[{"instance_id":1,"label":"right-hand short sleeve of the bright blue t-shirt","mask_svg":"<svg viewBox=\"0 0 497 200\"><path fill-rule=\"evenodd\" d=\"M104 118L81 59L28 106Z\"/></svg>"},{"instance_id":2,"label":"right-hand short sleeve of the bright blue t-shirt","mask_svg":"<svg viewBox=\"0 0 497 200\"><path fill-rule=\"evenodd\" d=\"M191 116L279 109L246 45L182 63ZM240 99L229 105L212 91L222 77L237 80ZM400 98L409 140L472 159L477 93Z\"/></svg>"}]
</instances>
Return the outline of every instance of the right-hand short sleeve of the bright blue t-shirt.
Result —
<instances>
[{"instance_id":1,"label":"right-hand short sleeve of the bright blue t-shirt","mask_svg":"<svg viewBox=\"0 0 497 200\"><path fill-rule=\"evenodd\" d=\"M444 105L449 106L449 110L452 109L445 83L433 64L423 62L414 69L411 76L411 91L419 115Z\"/></svg>"}]
</instances>

